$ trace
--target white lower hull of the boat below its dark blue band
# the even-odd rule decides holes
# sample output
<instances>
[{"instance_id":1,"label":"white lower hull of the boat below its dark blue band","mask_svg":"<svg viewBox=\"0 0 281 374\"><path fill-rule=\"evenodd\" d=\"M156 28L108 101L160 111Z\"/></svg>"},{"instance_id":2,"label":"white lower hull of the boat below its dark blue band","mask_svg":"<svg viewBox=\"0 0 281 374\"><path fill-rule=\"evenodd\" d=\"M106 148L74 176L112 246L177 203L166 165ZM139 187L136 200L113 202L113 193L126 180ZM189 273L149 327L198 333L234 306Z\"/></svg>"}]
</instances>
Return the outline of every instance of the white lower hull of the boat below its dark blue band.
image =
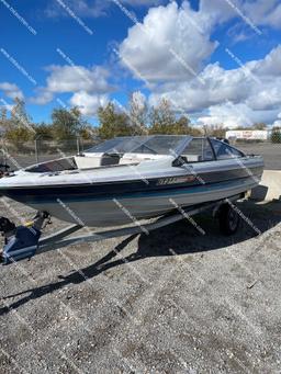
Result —
<instances>
[{"instance_id":1,"label":"white lower hull of the boat below its dark blue band","mask_svg":"<svg viewBox=\"0 0 281 374\"><path fill-rule=\"evenodd\" d=\"M257 181L251 177L216 185L162 192L138 197L113 197L104 200L63 201L48 204L29 203L37 211L47 211L52 216L88 227L110 227L136 223L139 219L160 216L182 206L226 199L251 190Z\"/></svg>"}]
</instances>

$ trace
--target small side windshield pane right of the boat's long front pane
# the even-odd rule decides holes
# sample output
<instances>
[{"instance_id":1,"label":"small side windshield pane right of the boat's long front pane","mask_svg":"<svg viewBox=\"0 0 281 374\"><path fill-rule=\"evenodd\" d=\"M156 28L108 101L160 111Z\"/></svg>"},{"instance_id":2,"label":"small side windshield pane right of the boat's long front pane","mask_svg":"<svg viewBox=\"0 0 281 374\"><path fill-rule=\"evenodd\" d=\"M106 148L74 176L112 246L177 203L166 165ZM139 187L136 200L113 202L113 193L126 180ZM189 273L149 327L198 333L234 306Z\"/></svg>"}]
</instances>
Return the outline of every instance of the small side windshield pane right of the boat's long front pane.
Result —
<instances>
[{"instance_id":1,"label":"small side windshield pane right of the boat's long front pane","mask_svg":"<svg viewBox=\"0 0 281 374\"><path fill-rule=\"evenodd\" d=\"M182 157L188 162L202 162L214 160L212 147L206 138L193 138L182 151Z\"/></svg>"}]
</instances>

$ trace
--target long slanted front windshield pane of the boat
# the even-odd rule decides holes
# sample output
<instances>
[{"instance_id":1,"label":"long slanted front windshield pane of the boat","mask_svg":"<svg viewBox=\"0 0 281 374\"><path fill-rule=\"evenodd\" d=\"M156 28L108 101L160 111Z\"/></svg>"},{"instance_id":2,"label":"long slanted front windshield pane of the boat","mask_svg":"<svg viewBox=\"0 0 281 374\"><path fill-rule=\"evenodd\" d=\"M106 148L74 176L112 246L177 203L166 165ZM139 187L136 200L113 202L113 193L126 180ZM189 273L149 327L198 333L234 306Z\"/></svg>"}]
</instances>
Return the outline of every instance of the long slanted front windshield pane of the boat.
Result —
<instances>
[{"instance_id":1,"label":"long slanted front windshield pane of the boat","mask_svg":"<svg viewBox=\"0 0 281 374\"><path fill-rule=\"evenodd\" d=\"M187 138L189 136L184 135L124 136L106 140L86 152L171 155Z\"/></svg>"}]
</instances>

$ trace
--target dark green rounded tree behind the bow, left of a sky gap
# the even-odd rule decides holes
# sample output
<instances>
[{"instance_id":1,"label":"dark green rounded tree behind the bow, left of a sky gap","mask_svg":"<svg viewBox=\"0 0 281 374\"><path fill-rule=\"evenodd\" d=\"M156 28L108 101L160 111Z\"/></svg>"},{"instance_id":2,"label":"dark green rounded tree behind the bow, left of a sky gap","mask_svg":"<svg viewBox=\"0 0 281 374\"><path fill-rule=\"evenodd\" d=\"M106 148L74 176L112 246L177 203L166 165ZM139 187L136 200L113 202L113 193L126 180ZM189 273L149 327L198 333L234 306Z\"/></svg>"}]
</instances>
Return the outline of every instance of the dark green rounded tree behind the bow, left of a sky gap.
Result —
<instances>
[{"instance_id":1,"label":"dark green rounded tree behind the bow, left of a sky gap","mask_svg":"<svg viewBox=\"0 0 281 374\"><path fill-rule=\"evenodd\" d=\"M54 109L52 113L53 137L56 140L69 140L79 136L80 131L86 126L81 112L78 107L70 110Z\"/></svg>"}]
</instances>

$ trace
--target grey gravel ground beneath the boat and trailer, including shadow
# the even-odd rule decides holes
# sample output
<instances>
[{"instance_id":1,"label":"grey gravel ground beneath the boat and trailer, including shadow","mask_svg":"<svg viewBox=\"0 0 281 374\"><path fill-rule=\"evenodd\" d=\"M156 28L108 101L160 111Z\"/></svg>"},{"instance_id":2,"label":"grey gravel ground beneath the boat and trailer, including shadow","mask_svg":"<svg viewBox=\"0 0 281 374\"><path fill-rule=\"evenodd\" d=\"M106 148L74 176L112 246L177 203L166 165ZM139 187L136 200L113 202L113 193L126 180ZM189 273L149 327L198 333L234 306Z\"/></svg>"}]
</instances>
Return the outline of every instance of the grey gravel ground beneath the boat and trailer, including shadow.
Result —
<instances>
[{"instance_id":1,"label":"grey gravel ground beneath the boat and trailer, including shadow","mask_svg":"<svg viewBox=\"0 0 281 374\"><path fill-rule=\"evenodd\" d=\"M0 373L280 373L281 206L239 208L2 267Z\"/></svg>"}]
</instances>

